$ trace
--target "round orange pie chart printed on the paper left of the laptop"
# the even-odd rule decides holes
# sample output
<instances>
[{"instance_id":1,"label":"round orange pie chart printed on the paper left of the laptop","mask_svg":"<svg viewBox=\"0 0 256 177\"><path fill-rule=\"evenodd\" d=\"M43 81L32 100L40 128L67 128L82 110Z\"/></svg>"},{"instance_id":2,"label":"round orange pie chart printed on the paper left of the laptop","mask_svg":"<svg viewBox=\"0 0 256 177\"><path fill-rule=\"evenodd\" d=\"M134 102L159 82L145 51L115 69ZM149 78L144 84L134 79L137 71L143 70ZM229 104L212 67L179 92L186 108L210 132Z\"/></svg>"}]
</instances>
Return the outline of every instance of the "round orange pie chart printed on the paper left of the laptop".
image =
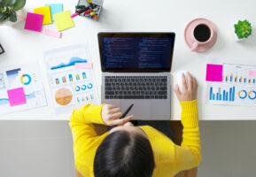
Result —
<instances>
[{"instance_id":1,"label":"round orange pie chart printed on the paper left of the laptop","mask_svg":"<svg viewBox=\"0 0 256 177\"><path fill-rule=\"evenodd\" d=\"M72 93L69 89L58 89L55 93L55 101L60 105L69 104L72 101Z\"/></svg>"}]
</instances>

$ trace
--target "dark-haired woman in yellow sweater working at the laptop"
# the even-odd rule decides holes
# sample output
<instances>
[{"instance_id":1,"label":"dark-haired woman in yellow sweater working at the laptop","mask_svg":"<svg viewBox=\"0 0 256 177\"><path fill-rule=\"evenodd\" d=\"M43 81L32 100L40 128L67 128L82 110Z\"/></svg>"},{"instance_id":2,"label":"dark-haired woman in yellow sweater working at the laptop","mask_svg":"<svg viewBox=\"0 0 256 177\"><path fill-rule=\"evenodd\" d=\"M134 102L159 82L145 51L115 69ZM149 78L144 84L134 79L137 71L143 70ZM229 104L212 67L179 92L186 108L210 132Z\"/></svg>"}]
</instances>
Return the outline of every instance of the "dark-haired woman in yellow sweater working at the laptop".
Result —
<instances>
[{"instance_id":1,"label":"dark-haired woman in yellow sweater working at the laptop","mask_svg":"<svg viewBox=\"0 0 256 177\"><path fill-rule=\"evenodd\" d=\"M175 87L182 106L181 146L153 127L133 126L133 116L119 119L122 113L114 105L87 104L70 118L75 168L85 177L170 177L198 166L198 83L187 74L187 83L182 75L182 93ZM93 123L117 127L99 136Z\"/></svg>"}]
</instances>

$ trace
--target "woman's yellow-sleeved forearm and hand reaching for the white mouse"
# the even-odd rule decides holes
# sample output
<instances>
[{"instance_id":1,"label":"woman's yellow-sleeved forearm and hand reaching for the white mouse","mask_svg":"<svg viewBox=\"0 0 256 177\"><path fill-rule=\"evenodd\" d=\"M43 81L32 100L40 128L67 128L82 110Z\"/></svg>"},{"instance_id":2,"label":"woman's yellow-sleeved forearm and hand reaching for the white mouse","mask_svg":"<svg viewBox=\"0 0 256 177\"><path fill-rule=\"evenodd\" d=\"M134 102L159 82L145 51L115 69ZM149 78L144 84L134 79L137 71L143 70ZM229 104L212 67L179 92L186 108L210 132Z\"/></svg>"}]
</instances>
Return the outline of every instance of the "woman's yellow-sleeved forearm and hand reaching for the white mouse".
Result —
<instances>
[{"instance_id":1,"label":"woman's yellow-sleeved forearm and hand reaching for the white mouse","mask_svg":"<svg viewBox=\"0 0 256 177\"><path fill-rule=\"evenodd\" d=\"M198 166L201 160L201 146L198 128L198 104L197 90L198 84L195 78L188 73L188 83L183 75L182 93L175 89L175 93L182 106L182 145L176 146L177 171L187 170Z\"/></svg>"}]
</instances>

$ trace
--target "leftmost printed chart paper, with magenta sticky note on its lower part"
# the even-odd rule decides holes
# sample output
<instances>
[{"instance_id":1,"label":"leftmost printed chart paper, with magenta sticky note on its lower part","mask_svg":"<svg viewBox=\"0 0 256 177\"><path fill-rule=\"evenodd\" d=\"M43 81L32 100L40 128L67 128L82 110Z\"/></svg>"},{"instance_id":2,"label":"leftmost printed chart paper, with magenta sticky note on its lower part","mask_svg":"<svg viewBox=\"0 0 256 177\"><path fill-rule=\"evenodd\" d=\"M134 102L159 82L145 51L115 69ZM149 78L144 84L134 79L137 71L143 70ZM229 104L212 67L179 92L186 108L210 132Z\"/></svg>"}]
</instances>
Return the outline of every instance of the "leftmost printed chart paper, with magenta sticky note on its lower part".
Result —
<instances>
[{"instance_id":1,"label":"leftmost printed chart paper, with magenta sticky note on its lower part","mask_svg":"<svg viewBox=\"0 0 256 177\"><path fill-rule=\"evenodd\" d=\"M0 72L0 114L46 105L38 67L29 63Z\"/></svg>"}]
</instances>

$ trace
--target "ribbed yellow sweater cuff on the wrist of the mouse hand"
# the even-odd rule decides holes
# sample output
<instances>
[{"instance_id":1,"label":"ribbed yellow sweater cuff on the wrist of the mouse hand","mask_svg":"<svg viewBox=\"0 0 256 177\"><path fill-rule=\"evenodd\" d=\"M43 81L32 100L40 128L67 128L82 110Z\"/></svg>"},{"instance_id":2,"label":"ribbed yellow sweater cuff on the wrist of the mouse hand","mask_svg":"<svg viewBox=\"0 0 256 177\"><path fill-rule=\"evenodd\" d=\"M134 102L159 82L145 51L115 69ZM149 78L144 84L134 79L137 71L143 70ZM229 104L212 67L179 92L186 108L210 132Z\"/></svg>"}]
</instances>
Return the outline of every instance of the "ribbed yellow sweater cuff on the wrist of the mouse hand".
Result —
<instances>
[{"instance_id":1,"label":"ribbed yellow sweater cuff on the wrist of the mouse hand","mask_svg":"<svg viewBox=\"0 0 256 177\"><path fill-rule=\"evenodd\" d=\"M181 102L183 127L198 127L198 100Z\"/></svg>"}]
</instances>

